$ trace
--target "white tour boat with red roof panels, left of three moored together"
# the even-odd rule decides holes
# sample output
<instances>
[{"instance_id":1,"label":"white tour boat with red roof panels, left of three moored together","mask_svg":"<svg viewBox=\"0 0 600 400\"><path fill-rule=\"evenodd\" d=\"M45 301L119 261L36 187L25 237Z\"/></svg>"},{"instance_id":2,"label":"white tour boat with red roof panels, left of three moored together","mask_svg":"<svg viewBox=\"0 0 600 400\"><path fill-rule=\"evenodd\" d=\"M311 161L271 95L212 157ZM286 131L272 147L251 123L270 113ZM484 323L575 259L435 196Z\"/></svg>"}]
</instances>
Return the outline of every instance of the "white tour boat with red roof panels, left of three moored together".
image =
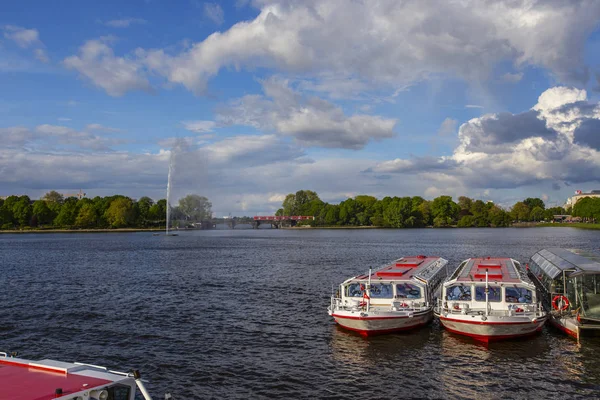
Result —
<instances>
[{"instance_id":1,"label":"white tour boat with red roof panels, left of three moored together","mask_svg":"<svg viewBox=\"0 0 600 400\"><path fill-rule=\"evenodd\" d=\"M344 281L328 312L362 336L413 329L433 318L436 289L447 275L441 257L403 257Z\"/></svg>"}]
</instances>

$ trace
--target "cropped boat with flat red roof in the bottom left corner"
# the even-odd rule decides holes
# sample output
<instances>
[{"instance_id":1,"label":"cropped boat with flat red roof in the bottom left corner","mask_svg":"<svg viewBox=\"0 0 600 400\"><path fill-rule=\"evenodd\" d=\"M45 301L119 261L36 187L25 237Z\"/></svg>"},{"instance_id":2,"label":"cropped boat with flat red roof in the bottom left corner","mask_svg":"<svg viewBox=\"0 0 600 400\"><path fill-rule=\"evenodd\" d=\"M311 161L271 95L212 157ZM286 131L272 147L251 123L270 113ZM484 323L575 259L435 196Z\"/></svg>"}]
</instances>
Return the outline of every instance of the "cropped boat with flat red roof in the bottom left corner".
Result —
<instances>
[{"instance_id":1,"label":"cropped boat with flat red roof in the bottom left corner","mask_svg":"<svg viewBox=\"0 0 600 400\"><path fill-rule=\"evenodd\" d=\"M31 361L0 352L0 399L3 400L140 398L152 400L137 371L109 371L96 365L55 360ZM171 397L167 394L165 398Z\"/></svg>"}]
</instances>

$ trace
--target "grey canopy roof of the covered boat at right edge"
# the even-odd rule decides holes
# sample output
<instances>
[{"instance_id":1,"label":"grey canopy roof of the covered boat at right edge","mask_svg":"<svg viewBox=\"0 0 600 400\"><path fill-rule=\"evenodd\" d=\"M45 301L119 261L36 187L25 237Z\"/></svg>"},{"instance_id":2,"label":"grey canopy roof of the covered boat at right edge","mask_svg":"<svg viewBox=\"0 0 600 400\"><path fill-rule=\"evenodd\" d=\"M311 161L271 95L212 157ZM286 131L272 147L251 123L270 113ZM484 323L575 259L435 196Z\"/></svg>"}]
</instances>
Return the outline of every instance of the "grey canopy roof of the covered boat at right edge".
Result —
<instances>
[{"instance_id":1,"label":"grey canopy roof of the covered boat at right edge","mask_svg":"<svg viewBox=\"0 0 600 400\"><path fill-rule=\"evenodd\" d=\"M535 253L534 261L551 279L563 271L574 271L569 277L600 274L600 255L587 250L551 248Z\"/></svg>"}]
</instances>

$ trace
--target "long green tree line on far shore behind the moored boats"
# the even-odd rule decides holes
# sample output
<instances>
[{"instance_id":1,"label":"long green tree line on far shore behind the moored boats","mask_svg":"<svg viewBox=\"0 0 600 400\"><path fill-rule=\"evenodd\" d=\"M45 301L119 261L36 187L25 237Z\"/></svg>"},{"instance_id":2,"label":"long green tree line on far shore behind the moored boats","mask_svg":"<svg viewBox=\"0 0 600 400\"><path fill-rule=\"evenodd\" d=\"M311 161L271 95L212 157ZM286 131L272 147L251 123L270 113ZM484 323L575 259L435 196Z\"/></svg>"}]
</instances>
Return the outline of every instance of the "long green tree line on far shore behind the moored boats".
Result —
<instances>
[{"instance_id":1,"label":"long green tree line on far shore behind the moored boats","mask_svg":"<svg viewBox=\"0 0 600 400\"><path fill-rule=\"evenodd\" d=\"M579 203L578 203L579 204ZM384 197L360 195L329 204L311 190L300 190L286 196L277 215L308 215L312 226L378 226L389 228L444 227L504 227L513 222L552 220L565 214L562 207L546 209L538 198L527 198L505 210L492 202L466 196L454 202L451 196L425 200L420 196Z\"/></svg>"}]
</instances>

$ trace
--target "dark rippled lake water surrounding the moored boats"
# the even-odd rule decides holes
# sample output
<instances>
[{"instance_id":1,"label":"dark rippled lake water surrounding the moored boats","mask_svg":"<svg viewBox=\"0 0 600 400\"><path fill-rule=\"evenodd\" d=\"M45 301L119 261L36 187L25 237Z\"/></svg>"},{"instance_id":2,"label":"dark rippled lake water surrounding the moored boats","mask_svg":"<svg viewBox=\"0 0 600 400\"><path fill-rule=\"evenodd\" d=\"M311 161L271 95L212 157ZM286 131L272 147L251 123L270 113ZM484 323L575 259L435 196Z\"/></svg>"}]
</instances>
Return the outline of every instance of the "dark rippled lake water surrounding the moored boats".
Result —
<instances>
[{"instance_id":1,"label":"dark rippled lake water surrounding the moored boats","mask_svg":"<svg viewBox=\"0 0 600 400\"><path fill-rule=\"evenodd\" d=\"M332 284L406 255L599 251L570 228L0 235L0 351L139 368L155 399L600 398L600 341L484 346L437 322L363 339ZM0 388L0 391L2 389Z\"/></svg>"}]
</instances>

